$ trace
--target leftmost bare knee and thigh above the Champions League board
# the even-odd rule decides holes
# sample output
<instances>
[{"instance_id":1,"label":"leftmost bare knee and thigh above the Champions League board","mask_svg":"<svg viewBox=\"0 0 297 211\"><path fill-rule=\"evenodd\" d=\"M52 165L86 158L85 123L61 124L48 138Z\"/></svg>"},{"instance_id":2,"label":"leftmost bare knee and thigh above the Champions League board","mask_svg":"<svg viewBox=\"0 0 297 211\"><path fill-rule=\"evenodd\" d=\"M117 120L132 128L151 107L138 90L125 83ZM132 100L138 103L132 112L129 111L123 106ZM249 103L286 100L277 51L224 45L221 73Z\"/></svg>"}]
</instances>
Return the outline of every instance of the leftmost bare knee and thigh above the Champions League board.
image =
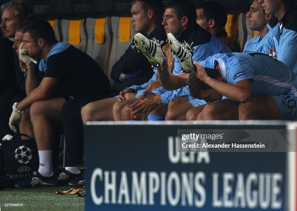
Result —
<instances>
[{"instance_id":1,"label":"leftmost bare knee and thigh above the Champions League board","mask_svg":"<svg viewBox=\"0 0 297 211\"><path fill-rule=\"evenodd\" d=\"M87 121L114 121L113 105L118 101L116 97L94 101L81 109L83 123Z\"/></svg>"}]
</instances>

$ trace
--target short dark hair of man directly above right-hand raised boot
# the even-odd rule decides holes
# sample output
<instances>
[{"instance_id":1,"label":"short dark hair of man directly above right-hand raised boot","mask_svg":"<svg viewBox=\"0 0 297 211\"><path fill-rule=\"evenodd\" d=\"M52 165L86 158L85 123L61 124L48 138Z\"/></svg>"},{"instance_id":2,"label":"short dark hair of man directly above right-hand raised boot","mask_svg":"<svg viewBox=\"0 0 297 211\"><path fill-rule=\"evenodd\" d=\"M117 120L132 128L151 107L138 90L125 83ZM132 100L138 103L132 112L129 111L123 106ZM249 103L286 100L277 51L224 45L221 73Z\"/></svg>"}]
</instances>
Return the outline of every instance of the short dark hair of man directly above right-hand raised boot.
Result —
<instances>
[{"instance_id":1,"label":"short dark hair of man directly above right-hand raised boot","mask_svg":"<svg viewBox=\"0 0 297 211\"><path fill-rule=\"evenodd\" d=\"M196 10L192 1L173 0L166 5L165 9L167 8L174 9L179 20L187 16L189 18L189 24L196 24Z\"/></svg>"}]
</instances>

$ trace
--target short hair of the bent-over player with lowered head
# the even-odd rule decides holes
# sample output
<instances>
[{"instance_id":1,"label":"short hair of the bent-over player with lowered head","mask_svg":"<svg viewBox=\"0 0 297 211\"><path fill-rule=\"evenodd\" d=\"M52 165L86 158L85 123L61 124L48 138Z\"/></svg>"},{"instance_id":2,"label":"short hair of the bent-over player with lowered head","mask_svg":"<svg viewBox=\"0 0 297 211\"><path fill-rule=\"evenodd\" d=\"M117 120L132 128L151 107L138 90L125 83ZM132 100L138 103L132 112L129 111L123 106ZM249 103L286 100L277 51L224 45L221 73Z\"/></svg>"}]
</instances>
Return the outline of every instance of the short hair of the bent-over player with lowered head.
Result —
<instances>
[{"instance_id":1,"label":"short hair of the bent-over player with lowered head","mask_svg":"<svg viewBox=\"0 0 297 211\"><path fill-rule=\"evenodd\" d=\"M219 79L220 73L217 69L207 68L207 67L205 67L204 69L205 69L206 74L209 77L211 77L213 79ZM199 78L197 78L195 71L192 71L189 74L188 86L189 86L189 91L190 91L191 95L195 98L199 98L201 91L212 89L206 83L204 83Z\"/></svg>"}]
</instances>

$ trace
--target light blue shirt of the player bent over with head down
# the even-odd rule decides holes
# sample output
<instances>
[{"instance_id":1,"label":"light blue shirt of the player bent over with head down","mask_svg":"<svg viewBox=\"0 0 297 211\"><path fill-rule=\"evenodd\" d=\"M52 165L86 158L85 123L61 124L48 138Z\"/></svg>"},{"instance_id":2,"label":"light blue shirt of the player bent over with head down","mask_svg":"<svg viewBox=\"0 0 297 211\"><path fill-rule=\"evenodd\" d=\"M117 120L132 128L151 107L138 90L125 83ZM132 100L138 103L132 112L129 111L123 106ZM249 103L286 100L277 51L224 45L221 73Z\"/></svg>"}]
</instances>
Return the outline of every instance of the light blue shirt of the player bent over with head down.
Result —
<instances>
[{"instance_id":1,"label":"light blue shirt of the player bent over with head down","mask_svg":"<svg viewBox=\"0 0 297 211\"><path fill-rule=\"evenodd\" d=\"M297 96L297 76L284 63L256 52L215 54L200 62L213 68L219 63L226 83L251 81L250 98L294 94Z\"/></svg>"}]
</instances>

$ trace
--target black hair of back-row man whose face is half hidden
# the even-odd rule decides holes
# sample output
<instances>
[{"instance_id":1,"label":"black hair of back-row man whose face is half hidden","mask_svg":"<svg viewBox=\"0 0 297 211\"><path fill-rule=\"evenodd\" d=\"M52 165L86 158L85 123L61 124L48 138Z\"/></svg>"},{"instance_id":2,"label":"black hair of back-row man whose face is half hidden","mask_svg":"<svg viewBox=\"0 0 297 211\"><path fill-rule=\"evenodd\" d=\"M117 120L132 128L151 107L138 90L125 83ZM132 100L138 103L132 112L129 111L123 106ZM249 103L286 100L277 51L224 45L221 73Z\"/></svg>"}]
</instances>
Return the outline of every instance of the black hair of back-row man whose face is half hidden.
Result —
<instances>
[{"instance_id":1,"label":"black hair of back-row man whose face is half hidden","mask_svg":"<svg viewBox=\"0 0 297 211\"><path fill-rule=\"evenodd\" d=\"M214 19L217 27L223 29L227 23L227 13L225 7L217 1L206 1L198 4L196 9L203 9L206 20Z\"/></svg>"}]
</instances>

